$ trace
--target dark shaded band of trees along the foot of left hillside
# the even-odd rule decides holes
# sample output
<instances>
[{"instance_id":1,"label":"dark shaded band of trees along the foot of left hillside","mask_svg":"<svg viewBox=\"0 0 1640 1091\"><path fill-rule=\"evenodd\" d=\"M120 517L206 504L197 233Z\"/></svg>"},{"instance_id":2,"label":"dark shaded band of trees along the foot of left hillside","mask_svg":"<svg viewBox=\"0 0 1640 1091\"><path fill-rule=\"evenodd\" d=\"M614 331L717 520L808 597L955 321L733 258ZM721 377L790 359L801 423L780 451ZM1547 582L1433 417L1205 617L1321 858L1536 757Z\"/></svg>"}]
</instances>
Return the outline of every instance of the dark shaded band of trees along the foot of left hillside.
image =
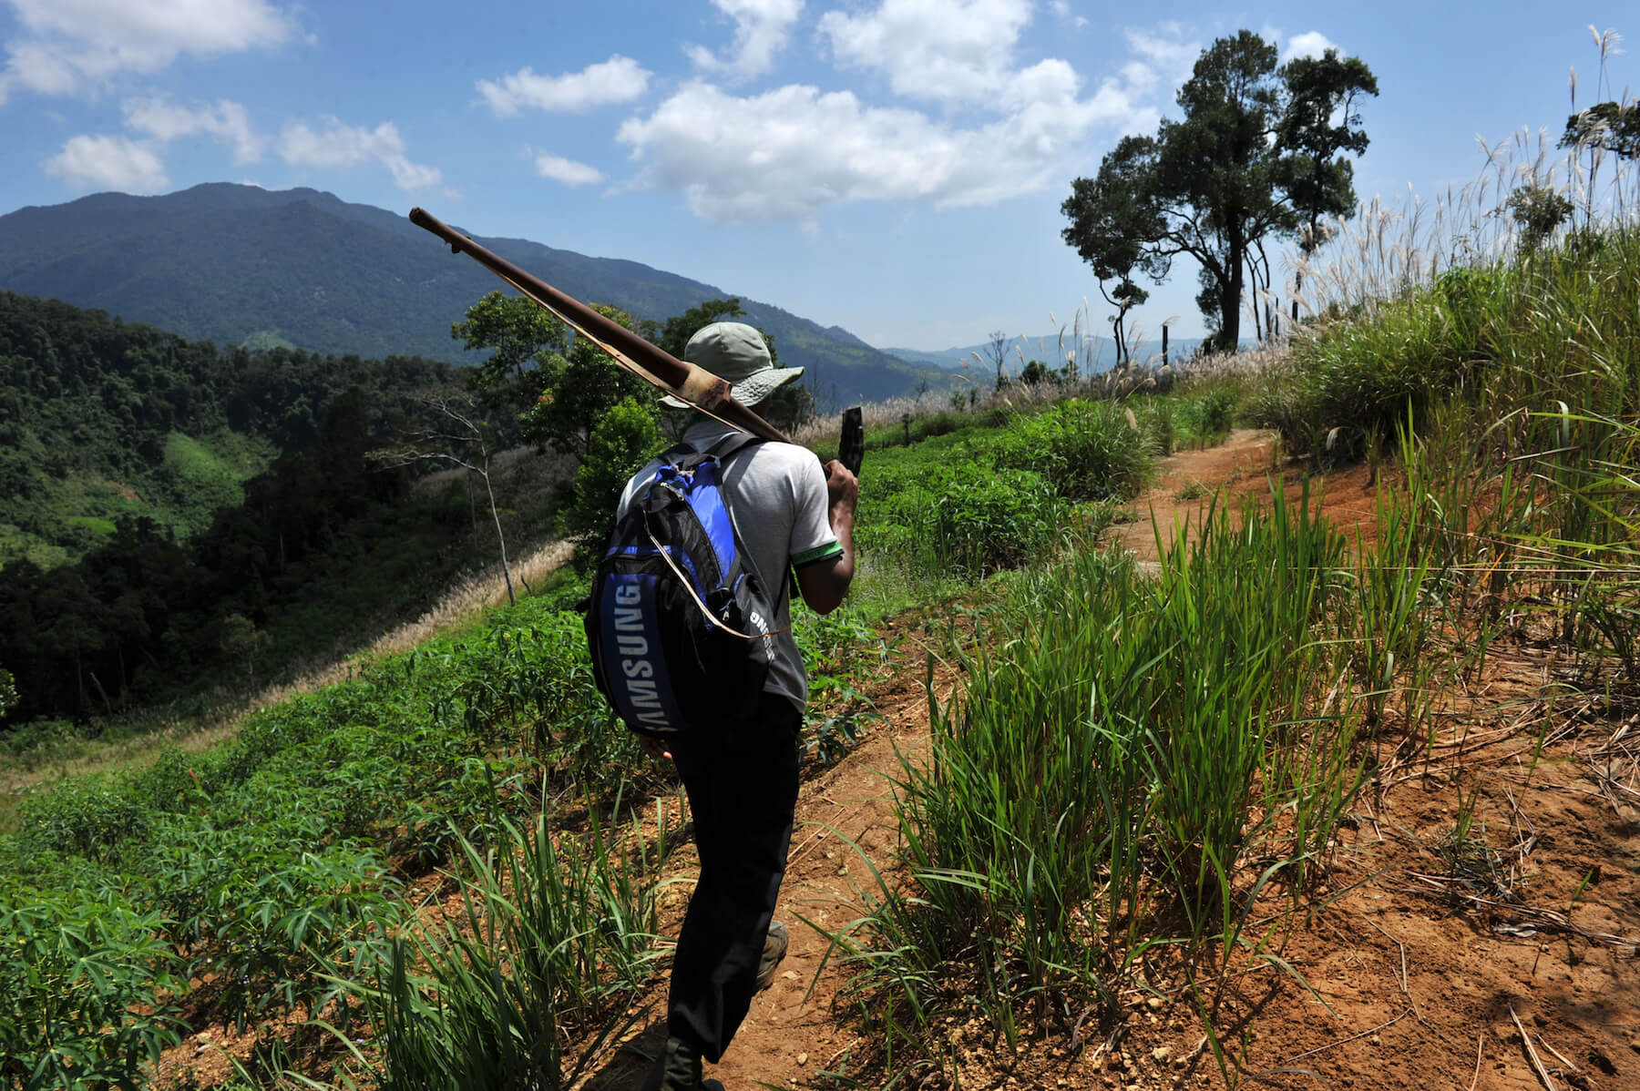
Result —
<instances>
[{"instance_id":1,"label":"dark shaded band of trees along the foot of left hillside","mask_svg":"<svg viewBox=\"0 0 1640 1091\"><path fill-rule=\"evenodd\" d=\"M312 447L246 482L246 503L187 544L125 519L79 565L5 568L0 662L23 695L13 716L84 721L238 690L413 621L494 557L497 529L472 518L462 482L412 491L403 469L371 457L382 444L372 419L364 392L338 398ZM525 490L546 493L531 482L556 485L558 472L540 460L508 470L508 537L551 531L551 501Z\"/></svg>"}]
</instances>

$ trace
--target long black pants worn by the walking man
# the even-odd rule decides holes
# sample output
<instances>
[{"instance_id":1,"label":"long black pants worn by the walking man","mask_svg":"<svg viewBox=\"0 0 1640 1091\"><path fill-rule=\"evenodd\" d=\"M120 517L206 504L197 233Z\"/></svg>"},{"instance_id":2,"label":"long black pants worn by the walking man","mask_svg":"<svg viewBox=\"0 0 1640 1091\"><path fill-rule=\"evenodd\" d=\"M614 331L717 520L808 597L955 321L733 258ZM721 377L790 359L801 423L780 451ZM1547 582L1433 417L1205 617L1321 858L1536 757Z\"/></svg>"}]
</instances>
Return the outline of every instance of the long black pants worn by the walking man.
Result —
<instances>
[{"instance_id":1,"label":"long black pants worn by the walking man","mask_svg":"<svg viewBox=\"0 0 1640 1091\"><path fill-rule=\"evenodd\" d=\"M764 693L751 722L667 740L689 793L700 881L672 957L666 1029L717 1063L751 1007L786 876L802 714Z\"/></svg>"}]
</instances>

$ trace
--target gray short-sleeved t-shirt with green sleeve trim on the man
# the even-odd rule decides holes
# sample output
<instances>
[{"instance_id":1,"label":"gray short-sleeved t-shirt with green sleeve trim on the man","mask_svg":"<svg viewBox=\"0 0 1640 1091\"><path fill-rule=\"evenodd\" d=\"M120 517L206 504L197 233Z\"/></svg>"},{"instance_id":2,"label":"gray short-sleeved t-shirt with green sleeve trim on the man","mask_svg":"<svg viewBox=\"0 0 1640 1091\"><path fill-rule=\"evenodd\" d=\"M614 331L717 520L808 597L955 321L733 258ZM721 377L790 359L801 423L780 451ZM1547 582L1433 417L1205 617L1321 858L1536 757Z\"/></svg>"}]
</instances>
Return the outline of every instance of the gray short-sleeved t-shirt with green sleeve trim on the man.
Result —
<instances>
[{"instance_id":1,"label":"gray short-sleeved t-shirt with green sleeve trim on the man","mask_svg":"<svg viewBox=\"0 0 1640 1091\"><path fill-rule=\"evenodd\" d=\"M684 442L695 450L705 450L733 428L722 421L700 421L684 432ZM622 491L617 518L626 513L626 505L649 483L659 459L651 459L638 470ZM804 657L792 636L789 596L781 593L789 565L802 567L827 560L843 552L841 542L831 532L828 518L830 500L825 488L825 472L820 460L807 447L795 444L763 442L743 447L730 455L720 477L723 501L735 516L741 544L758 565L764 590L779 601L774 622L774 663L764 693L779 693L802 711L809 699L809 678L804 673Z\"/></svg>"}]
</instances>

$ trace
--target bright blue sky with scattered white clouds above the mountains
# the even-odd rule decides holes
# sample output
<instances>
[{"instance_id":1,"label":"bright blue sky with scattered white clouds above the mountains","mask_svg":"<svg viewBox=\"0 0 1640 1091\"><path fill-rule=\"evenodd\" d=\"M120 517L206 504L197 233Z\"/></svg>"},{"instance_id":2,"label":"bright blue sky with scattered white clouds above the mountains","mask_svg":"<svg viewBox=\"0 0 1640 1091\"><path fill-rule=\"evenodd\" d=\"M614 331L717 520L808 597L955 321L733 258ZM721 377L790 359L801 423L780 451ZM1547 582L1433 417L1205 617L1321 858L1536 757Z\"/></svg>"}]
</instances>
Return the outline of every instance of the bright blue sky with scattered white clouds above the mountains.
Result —
<instances>
[{"instance_id":1,"label":"bright blue sky with scattered white clouds above the mountains","mask_svg":"<svg viewBox=\"0 0 1640 1091\"><path fill-rule=\"evenodd\" d=\"M198 182L423 205L940 349L1068 323L1059 201L1150 133L1204 46L1360 56L1356 192L1433 195L1476 138L1596 102L1632 3L0 0L0 211ZM1609 64L1620 95L1635 66ZM3 287L3 285L0 285ZM1140 323L1200 333L1176 272Z\"/></svg>"}]
</instances>

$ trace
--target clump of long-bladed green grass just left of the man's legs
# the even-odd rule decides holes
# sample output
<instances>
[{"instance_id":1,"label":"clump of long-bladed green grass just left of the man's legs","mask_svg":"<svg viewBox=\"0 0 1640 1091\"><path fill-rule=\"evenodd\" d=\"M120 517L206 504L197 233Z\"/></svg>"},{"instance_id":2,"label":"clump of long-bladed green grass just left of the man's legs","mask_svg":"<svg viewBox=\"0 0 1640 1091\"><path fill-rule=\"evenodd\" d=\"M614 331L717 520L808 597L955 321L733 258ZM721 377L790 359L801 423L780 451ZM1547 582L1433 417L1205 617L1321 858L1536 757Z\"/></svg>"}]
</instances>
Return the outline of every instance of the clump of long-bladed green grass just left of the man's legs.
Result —
<instances>
[{"instance_id":1,"label":"clump of long-bladed green grass just left of the man's legs","mask_svg":"<svg viewBox=\"0 0 1640 1091\"><path fill-rule=\"evenodd\" d=\"M661 831L664 844L666 831ZM638 831L505 822L497 850L458 837L462 909L338 981L364 1004L384 1088L567 1088L656 968L653 862ZM592 1032L590 1045L569 1043Z\"/></svg>"}]
</instances>

